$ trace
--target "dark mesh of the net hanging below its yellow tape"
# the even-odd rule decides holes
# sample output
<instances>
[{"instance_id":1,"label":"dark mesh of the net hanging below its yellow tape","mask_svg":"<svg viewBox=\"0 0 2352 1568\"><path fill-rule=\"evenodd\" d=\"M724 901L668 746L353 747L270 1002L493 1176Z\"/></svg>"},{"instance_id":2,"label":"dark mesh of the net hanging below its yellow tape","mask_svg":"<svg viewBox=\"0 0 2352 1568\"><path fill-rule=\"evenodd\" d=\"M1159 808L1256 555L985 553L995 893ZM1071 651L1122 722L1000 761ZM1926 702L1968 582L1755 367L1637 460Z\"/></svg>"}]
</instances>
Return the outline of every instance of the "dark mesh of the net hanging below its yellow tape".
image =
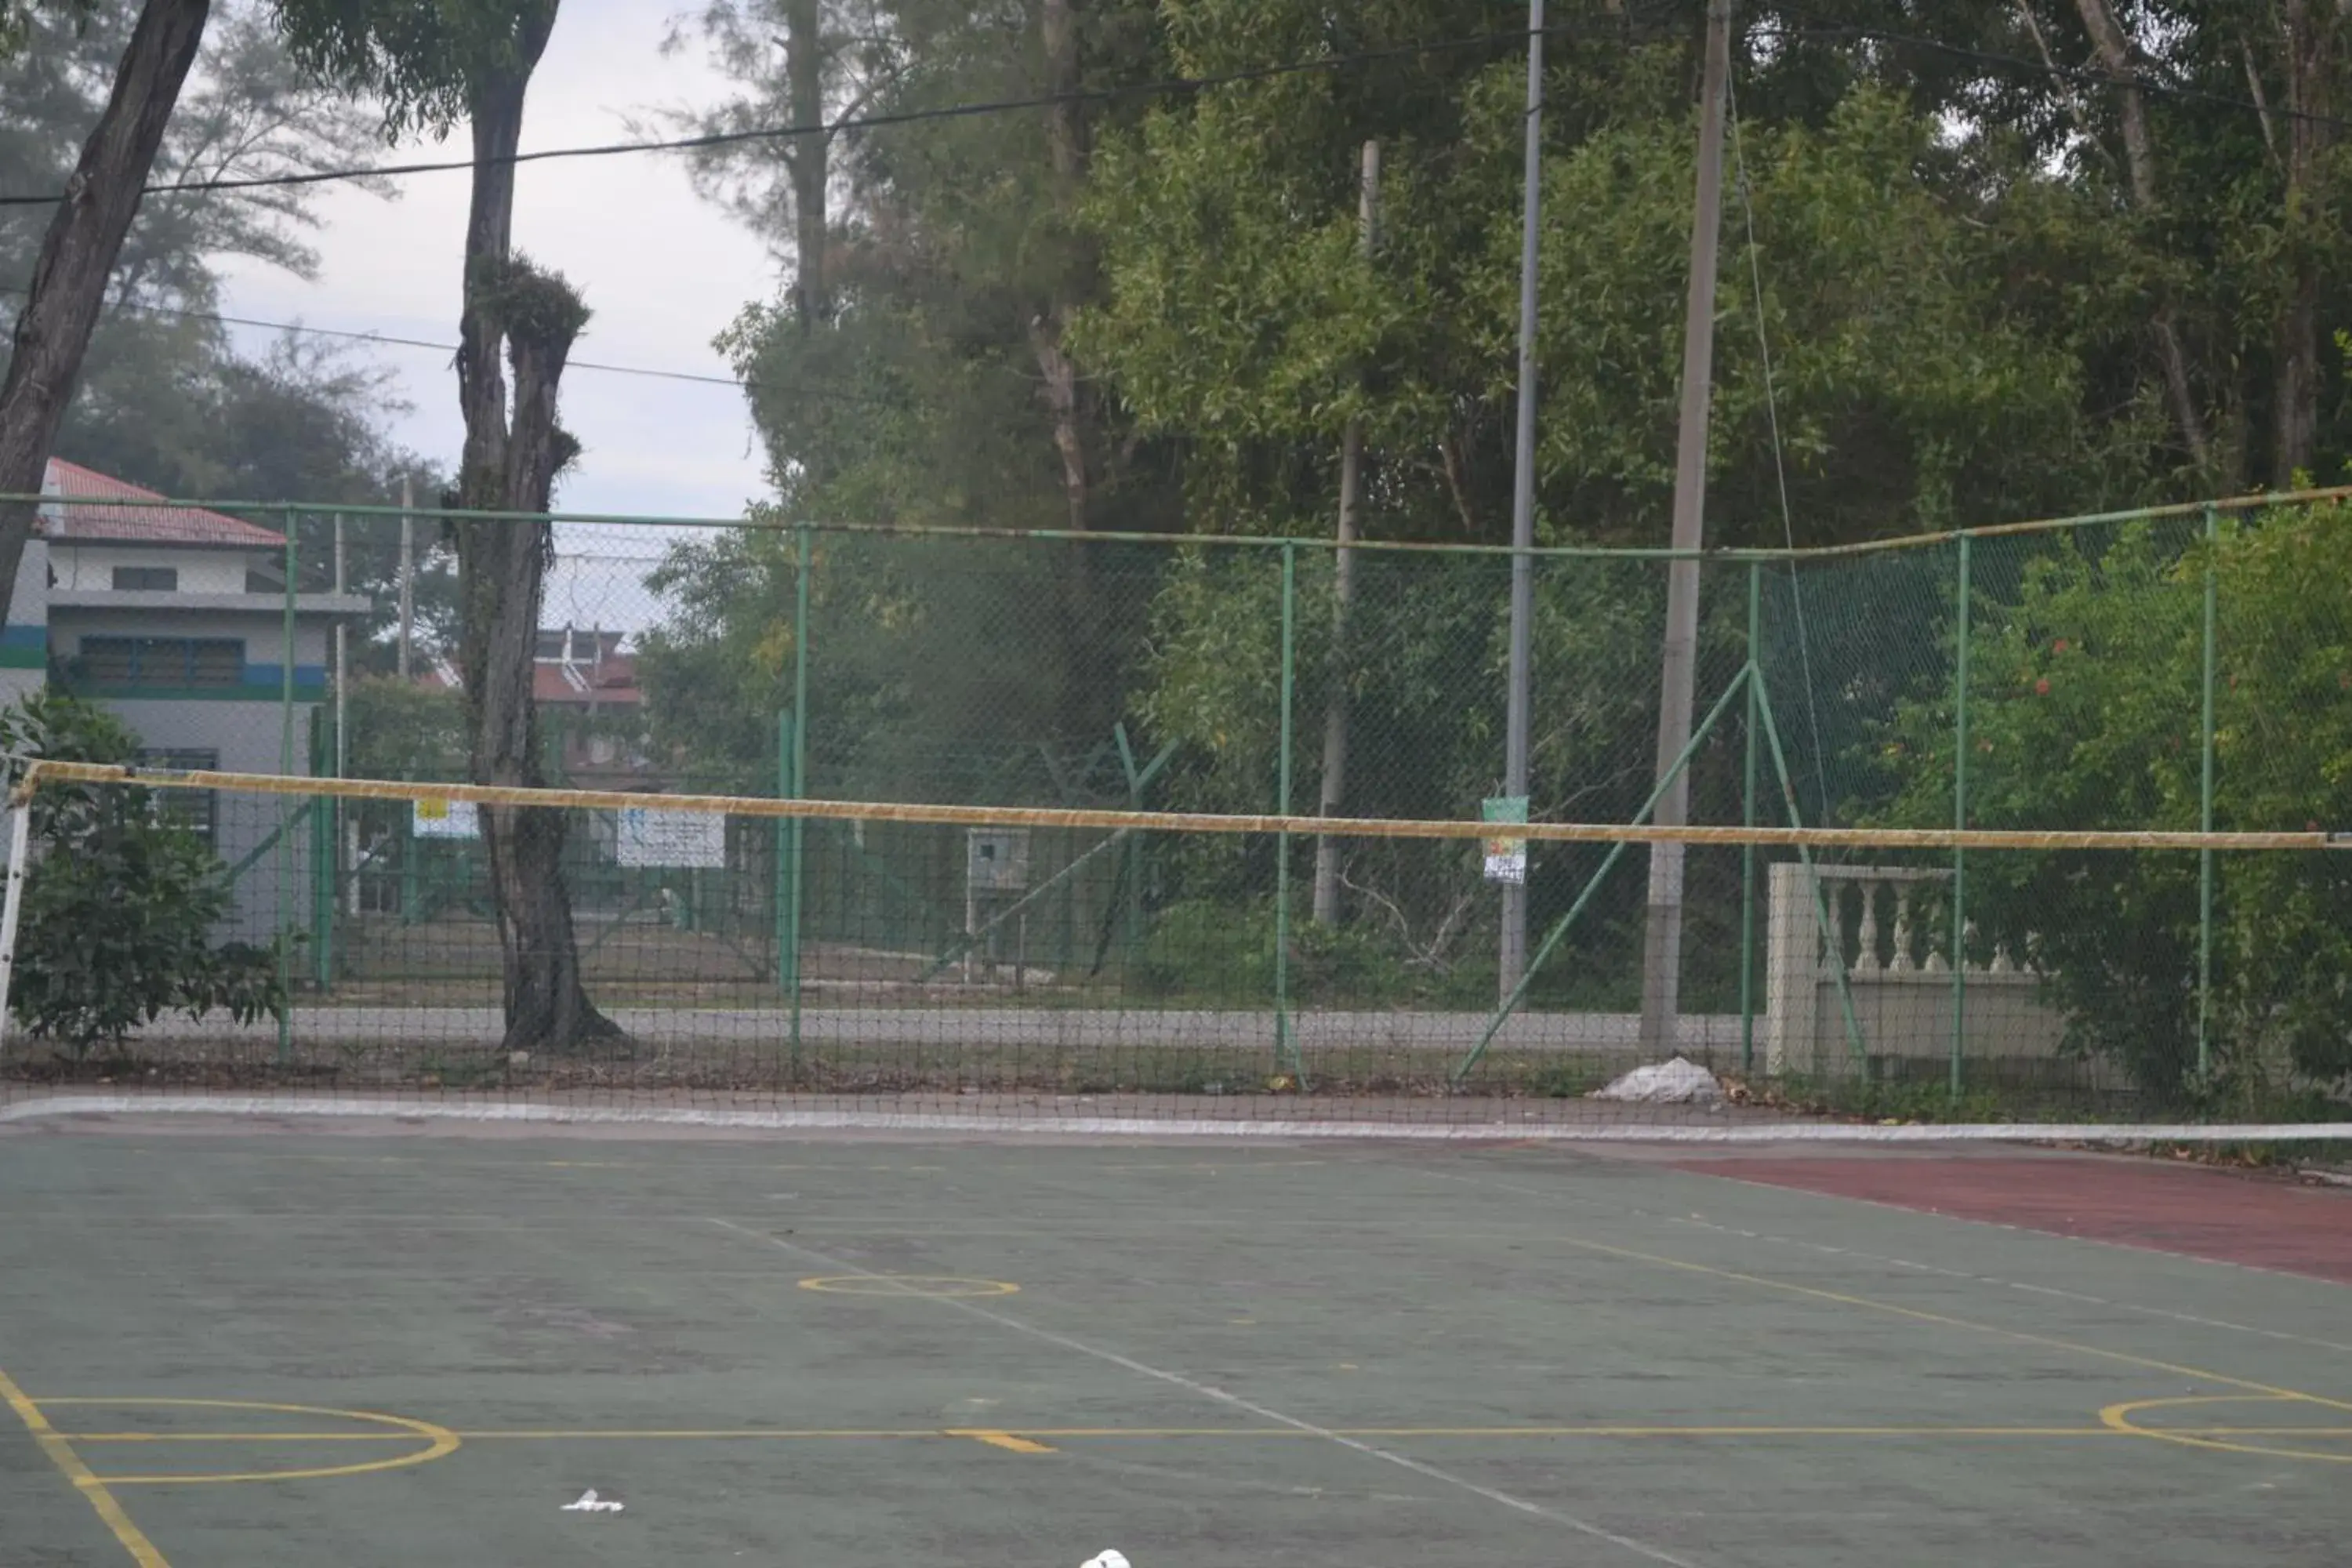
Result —
<instances>
[{"instance_id":1,"label":"dark mesh of the net hanging below its yellow tape","mask_svg":"<svg viewBox=\"0 0 2352 1568\"><path fill-rule=\"evenodd\" d=\"M884 825L955 835L967 856L983 839L1131 832L1174 856L1232 842L1251 860L1279 853L1284 837L1301 846L1315 823L774 797L673 797L654 809L600 792L42 764L26 792L26 877L14 900L9 1004L19 1027L0 1058L9 1100L38 1110L61 1091L106 1086L162 1103L202 1091L287 1105L313 1095L301 1103L619 1117L767 1105L1040 1124L1103 1114L1524 1124L1595 1135L1785 1135L1839 1126L1839 1112L1957 1112L1985 1126L2178 1121L2190 1135L2216 1138L2256 1124L2319 1138L2345 1121L2352 1053L2340 1016L2324 1020L2314 1001L2340 994L2352 966L2298 938L2310 910L2232 898L2249 940L2293 945L2303 964L2232 976L2232 1018L2263 1023L2244 1039L2220 1030L2232 1051L2227 1070L2213 1072L2192 1048L2197 950L2183 940L2192 926L2145 896L2150 886L2194 884L2199 863L2213 858L2225 889L2340 898L2352 858L2326 835L2183 832L2152 842L2126 832L1661 830L1691 851L1757 842L1846 856L1769 867L1755 1011L1740 1018L1708 1006L1684 1018L1682 1048L1672 1051L1684 1077L1665 1079L1679 1084L1682 1098L1672 1098L1656 1081L1625 1081L1628 1072L1665 1067L1668 1053L1644 1048L1637 1020L1606 999L1496 1009L1402 997L1397 987L1411 980L1395 971L1317 966L1315 950L1270 945L1247 891L1190 905L1188 919L1202 926L1197 966L1188 969L1162 971L1145 957L1101 980L1033 961L1011 933L967 945L943 966L934 959L936 973L880 959L840 973L804 966L797 990L781 983L783 954L746 940L743 926L699 914L691 900L623 910L576 898L572 957L588 1009L567 1030L517 1037L503 1001L517 966L548 954L513 950L513 936L477 910L452 912L435 945L402 950L400 976L339 978L318 961L320 943L348 952L369 919L343 917L332 877L315 877L318 898L294 912L259 900L188 825L200 792L212 797L212 820L263 835L289 806L299 816L362 799L421 809L449 839L461 839L468 816L487 825L494 811L508 813L501 823L541 811L567 823L576 853L567 877L586 882L586 867L602 865L659 870L687 886L767 875L771 867L739 846L769 844L767 830L795 820L790 813L851 832L863 825L870 842L901 846L896 858L875 851L873 875L913 875L910 860L936 853L915 835L884 839ZM1658 842L1599 825L1536 823L1526 832L1538 846L1604 853ZM1343 837L1359 856L1381 839L1470 853L1482 835L1479 823L1378 820ZM282 835L256 865L268 870L273 856L301 865L296 844L299 835ZM1950 851L1962 844L1976 891L1971 938L1955 964ZM1018 851L993 870L967 860L967 872L976 889L1000 891L1023 877ZM1211 912L1223 922L1207 924ZM263 940L252 938L256 922L270 924ZM1200 954L1214 954L1214 969ZM1270 994L1284 999L1272 1016ZM1755 1053L1748 1063L1733 1056L1743 1027ZM1955 1060L1966 1063L1957 1105Z\"/></svg>"}]
</instances>

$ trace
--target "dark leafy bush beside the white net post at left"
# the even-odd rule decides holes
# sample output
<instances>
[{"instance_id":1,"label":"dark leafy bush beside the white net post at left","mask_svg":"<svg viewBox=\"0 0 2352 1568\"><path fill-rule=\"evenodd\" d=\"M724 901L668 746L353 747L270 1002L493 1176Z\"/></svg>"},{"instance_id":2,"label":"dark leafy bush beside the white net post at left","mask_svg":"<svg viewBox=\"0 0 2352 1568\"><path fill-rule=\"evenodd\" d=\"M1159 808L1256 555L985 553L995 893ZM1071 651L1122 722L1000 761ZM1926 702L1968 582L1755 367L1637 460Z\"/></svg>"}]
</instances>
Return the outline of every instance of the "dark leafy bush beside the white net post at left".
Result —
<instances>
[{"instance_id":1,"label":"dark leafy bush beside the white net post at left","mask_svg":"<svg viewBox=\"0 0 2352 1568\"><path fill-rule=\"evenodd\" d=\"M120 719L54 689L0 712L0 745L9 757L61 762L139 757L139 738ZM285 1016L280 952L212 940L228 914L228 872L162 792L45 785L31 811L35 860L9 1011L33 1034L64 1041L80 1060L94 1046L120 1056L132 1030L172 1011L228 1011L238 1023Z\"/></svg>"}]
</instances>

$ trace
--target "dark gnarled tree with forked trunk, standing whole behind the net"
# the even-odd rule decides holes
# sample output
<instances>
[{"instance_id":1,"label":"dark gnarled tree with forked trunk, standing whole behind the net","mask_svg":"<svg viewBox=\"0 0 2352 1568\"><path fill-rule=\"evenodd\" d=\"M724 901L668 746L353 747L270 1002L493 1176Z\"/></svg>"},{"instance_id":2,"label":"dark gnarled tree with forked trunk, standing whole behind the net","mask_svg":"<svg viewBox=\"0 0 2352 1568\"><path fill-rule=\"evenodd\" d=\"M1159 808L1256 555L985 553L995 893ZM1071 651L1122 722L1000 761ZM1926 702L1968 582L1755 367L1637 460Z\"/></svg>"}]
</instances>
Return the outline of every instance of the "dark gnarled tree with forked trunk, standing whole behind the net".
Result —
<instances>
[{"instance_id":1,"label":"dark gnarled tree with forked trunk, standing whole behind the net","mask_svg":"<svg viewBox=\"0 0 2352 1568\"><path fill-rule=\"evenodd\" d=\"M454 501L524 517L449 524L461 595L459 668L475 783L520 788L546 783L532 665L553 527L532 515L548 510L555 475L579 451L557 425L555 393L588 324L572 284L513 249L522 106L555 12L557 0L278 0L296 59L327 80L376 92L388 132L459 118L473 129L456 355L466 454ZM619 1034L581 985L562 879L564 832L560 811L482 811L508 1051L572 1051Z\"/></svg>"}]
</instances>

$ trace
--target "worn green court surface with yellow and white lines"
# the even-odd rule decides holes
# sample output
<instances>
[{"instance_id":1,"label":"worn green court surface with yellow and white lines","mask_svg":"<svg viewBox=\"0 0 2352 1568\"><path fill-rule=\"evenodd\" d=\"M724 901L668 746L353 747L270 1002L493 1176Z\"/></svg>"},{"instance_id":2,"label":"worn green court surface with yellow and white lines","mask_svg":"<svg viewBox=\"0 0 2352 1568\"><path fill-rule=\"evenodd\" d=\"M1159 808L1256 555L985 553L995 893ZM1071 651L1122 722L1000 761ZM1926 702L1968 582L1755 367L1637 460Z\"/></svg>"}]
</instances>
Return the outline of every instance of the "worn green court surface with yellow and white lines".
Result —
<instances>
[{"instance_id":1,"label":"worn green court surface with yellow and white lines","mask_svg":"<svg viewBox=\"0 0 2352 1568\"><path fill-rule=\"evenodd\" d=\"M2345 1286L1736 1168L14 1128L0 1561L2345 1561Z\"/></svg>"}]
</instances>

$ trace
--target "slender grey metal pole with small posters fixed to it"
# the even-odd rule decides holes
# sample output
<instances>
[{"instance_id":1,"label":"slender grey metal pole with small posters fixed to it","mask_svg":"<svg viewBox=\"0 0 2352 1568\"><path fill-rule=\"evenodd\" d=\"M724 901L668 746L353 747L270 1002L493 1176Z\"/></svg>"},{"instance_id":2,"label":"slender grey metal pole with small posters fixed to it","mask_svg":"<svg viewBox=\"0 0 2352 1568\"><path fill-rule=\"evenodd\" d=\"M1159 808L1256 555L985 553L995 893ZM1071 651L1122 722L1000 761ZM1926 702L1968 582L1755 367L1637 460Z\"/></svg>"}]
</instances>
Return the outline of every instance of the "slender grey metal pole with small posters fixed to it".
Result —
<instances>
[{"instance_id":1,"label":"slender grey metal pole with small posters fixed to it","mask_svg":"<svg viewBox=\"0 0 2352 1568\"><path fill-rule=\"evenodd\" d=\"M1510 477L1510 691L1503 795L1526 797L1529 621L1536 614L1536 223L1543 214L1543 0L1526 0L1526 165L1519 174L1519 442ZM1501 992L1526 973L1526 877L1503 884Z\"/></svg>"}]
</instances>

